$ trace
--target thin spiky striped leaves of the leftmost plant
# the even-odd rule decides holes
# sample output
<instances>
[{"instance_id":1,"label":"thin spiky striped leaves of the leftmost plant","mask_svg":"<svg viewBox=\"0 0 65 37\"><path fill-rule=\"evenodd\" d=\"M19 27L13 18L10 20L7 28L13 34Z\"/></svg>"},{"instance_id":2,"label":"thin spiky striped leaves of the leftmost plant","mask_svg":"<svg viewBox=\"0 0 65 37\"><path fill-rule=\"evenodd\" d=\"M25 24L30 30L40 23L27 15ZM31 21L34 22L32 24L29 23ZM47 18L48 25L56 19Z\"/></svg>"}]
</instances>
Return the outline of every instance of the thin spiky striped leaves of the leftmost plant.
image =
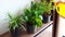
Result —
<instances>
[{"instance_id":1,"label":"thin spiky striped leaves of the leftmost plant","mask_svg":"<svg viewBox=\"0 0 65 37\"><path fill-rule=\"evenodd\" d=\"M15 30L16 27L22 28L22 26L23 26L23 24L22 24L23 23L22 15L17 15L15 17L15 16L9 14L9 17L10 17L10 20L9 20L9 28L10 29L12 28L12 29Z\"/></svg>"}]
</instances>

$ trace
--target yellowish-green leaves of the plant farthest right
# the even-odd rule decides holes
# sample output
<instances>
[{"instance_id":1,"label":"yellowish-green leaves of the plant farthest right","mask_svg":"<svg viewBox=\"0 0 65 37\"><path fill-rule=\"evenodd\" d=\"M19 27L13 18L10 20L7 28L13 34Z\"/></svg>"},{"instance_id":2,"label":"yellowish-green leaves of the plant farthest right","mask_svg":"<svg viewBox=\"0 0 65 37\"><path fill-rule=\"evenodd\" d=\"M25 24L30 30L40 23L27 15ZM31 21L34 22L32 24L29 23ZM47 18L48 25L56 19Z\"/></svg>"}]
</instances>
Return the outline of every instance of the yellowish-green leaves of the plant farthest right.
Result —
<instances>
[{"instance_id":1,"label":"yellowish-green leaves of the plant farthest right","mask_svg":"<svg viewBox=\"0 0 65 37\"><path fill-rule=\"evenodd\" d=\"M41 4L44 7L44 12L48 14L51 14L51 10L53 10L53 5L52 5L52 1L47 1L47 0L42 0Z\"/></svg>"}]
</instances>

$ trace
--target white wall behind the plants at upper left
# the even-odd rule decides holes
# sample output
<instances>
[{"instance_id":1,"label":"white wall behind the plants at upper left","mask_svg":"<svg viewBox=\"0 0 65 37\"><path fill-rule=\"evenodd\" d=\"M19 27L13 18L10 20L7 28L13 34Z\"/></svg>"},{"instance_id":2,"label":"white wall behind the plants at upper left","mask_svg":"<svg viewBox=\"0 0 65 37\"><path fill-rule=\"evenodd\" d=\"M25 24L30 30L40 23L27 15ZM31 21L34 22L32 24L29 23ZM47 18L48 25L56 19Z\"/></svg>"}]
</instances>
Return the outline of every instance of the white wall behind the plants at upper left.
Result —
<instances>
[{"instance_id":1,"label":"white wall behind the plants at upper left","mask_svg":"<svg viewBox=\"0 0 65 37\"><path fill-rule=\"evenodd\" d=\"M31 0L0 0L0 35L9 30L8 12L14 15L21 14L24 8L29 7Z\"/></svg>"}]
</instances>

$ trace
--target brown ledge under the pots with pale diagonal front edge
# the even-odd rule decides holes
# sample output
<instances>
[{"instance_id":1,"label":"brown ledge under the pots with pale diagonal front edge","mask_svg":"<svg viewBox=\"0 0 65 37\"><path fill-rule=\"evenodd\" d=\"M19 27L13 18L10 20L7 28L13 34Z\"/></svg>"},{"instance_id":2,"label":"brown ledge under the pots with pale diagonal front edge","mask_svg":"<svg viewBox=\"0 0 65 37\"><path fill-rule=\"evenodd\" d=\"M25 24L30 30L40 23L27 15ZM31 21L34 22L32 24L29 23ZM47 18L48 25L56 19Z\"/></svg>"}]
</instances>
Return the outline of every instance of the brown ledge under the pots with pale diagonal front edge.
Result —
<instances>
[{"instance_id":1,"label":"brown ledge under the pots with pale diagonal front edge","mask_svg":"<svg viewBox=\"0 0 65 37\"><path fill-rule=\"evenodd\" d=\"M47 29L50 25L52 25L53 21L43 24L41 27L37 27L37 32L35 34L27 34L25 30L20 35L20 37L36 37L38 36L41 32ZM11 34L8 32L3 35L0 35L0 37L11 37Z\"/></svg>"}]
</instances>

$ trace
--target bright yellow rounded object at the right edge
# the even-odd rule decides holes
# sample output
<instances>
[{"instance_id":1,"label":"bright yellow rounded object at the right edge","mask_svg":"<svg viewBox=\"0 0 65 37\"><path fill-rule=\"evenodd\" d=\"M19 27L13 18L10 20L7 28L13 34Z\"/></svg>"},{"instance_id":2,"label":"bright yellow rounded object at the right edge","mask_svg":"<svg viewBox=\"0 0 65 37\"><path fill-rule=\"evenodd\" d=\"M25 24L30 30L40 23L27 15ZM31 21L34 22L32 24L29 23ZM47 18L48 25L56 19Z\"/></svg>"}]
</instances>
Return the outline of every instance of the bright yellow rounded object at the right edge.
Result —
<instances>
[{"instance_id":1,"label":"bright yellow rounded object at the right edge","mask_svg":"<svg viewBox=\"0 0 65 37\"><path fill-rule=\"evenodd\" d=\"M65 17L65 2L57 2L55 4L57 13L62 16Z\"/></svg>"}]
</instances>

